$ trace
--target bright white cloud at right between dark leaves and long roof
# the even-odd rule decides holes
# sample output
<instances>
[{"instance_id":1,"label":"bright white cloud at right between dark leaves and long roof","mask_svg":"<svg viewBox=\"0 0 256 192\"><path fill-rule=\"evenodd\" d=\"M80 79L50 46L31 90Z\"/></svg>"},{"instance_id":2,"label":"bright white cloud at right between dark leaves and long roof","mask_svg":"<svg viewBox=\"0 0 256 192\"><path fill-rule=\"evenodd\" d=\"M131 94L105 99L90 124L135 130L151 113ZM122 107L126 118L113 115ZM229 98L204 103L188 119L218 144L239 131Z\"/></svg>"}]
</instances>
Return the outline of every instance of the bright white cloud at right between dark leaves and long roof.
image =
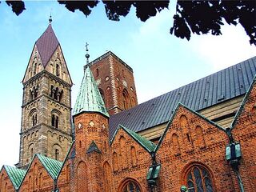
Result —
<instances>
[{"instance_id":1,"label":"bright white cloud at right between dark leaves and long roof","mask_svg":"<svg viewBox=\"0 0 256 192\"><path fill-rule=\"evenodd\" d=\"M222 35L191 37L191 47L199 57L222 70L256 55L255 46L250 46L249 37L242 26L222 26Z\"/></svg>"}]
</instances>

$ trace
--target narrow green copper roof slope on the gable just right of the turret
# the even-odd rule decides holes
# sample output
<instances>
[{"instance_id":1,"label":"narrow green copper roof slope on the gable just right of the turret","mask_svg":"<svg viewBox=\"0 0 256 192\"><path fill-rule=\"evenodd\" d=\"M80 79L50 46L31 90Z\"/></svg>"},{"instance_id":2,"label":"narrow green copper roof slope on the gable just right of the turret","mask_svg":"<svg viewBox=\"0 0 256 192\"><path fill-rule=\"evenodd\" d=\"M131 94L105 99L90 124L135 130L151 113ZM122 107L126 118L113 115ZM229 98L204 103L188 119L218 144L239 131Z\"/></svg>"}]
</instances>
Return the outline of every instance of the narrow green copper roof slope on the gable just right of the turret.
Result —
<instances>
[{"instance_id":1,"label":"narrow green copper roof slope on the gable just right of the turret","mask_svg":"<svg viewBox=\"0 0 256 192\"><path fill-rule=\"evenodd\" d=\"M156 146L154 142L146 140L146 138L143 138L139 134L136 134L134 131L127 129L122 125L119 126L122 127L122 129L125 130L127 134L130 134L130 136L134 138L134 140L136 140L141 146L143 146L149 153L154 151L154 148Z\"/></svg>"}]
</instances>

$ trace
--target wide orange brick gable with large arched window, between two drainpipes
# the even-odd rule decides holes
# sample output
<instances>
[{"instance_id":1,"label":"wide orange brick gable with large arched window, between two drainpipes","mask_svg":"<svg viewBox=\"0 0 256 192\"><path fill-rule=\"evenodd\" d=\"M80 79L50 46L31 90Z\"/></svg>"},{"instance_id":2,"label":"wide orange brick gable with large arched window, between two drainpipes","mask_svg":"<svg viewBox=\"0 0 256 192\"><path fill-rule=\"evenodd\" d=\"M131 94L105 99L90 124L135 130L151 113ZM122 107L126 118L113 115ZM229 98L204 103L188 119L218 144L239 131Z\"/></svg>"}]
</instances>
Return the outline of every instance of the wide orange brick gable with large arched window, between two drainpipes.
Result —
<instances>
[{"instance_id":1,"label":"wide orange brick gable with large arched window, between two drainpipes","mask_svg":"<svg viewBox=\"0 0 256 192\"><path fill-rule=\"evenodd\" d=\"M178 104L155 150L157 162L164 167L158 187L161 191L178 191L181 186L193 190L200 178L202 191L229 191L231 178L221 179L223 173L230 173L224 155L227 143L222 127Z\"/></svg>"}]
</instances>

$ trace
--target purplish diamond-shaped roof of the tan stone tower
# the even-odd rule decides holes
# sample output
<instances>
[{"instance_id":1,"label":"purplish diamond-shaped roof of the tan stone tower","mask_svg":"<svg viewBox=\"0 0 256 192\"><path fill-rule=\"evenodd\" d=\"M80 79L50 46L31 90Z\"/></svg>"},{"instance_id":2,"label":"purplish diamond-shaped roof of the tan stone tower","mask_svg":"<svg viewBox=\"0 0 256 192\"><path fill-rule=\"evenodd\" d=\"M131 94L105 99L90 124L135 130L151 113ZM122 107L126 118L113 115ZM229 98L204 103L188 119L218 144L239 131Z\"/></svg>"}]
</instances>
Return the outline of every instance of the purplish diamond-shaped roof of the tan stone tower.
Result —
<instances>
[{"instance_id":1,"label":"purplish diamond-shaped roof of the tan stone tower","mask_svg":"<svg viewBox=\"0 0 256 192\"><path fill-rule=\"evenodd\" d=\"M59 42L54 34L54 30L51 27L51 24L47 27L46 31L38 38L38 41L35 42L35 45L38 47L38 52L42 59L42 65L46 67L51 56L54 54L54 51L57 49Z\"/></svg>"}]
</instances>

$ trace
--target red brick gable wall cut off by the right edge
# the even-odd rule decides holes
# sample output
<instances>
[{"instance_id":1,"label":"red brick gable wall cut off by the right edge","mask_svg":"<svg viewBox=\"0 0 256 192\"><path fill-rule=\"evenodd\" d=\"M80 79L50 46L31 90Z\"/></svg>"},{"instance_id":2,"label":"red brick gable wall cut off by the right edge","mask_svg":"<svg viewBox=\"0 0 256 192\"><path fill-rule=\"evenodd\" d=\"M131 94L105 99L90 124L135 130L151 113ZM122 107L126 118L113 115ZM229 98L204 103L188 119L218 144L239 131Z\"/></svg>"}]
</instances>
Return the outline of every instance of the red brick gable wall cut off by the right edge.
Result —
<instances>
[{"instance_id":1,"label":"red brick gable wall cut off by the right edge","mask_svg":"<svg viewBox=\"0 0 256 192\"><path fill-rule=\"evenodd\" d=\"M239 171L242 183L248 191L256 188L256 86L254 85L242 113L234 124L232 134L234 142L240 142L242 150ZM249 190L250 189L250 190Z\"/></svg>"}]
</instances>

